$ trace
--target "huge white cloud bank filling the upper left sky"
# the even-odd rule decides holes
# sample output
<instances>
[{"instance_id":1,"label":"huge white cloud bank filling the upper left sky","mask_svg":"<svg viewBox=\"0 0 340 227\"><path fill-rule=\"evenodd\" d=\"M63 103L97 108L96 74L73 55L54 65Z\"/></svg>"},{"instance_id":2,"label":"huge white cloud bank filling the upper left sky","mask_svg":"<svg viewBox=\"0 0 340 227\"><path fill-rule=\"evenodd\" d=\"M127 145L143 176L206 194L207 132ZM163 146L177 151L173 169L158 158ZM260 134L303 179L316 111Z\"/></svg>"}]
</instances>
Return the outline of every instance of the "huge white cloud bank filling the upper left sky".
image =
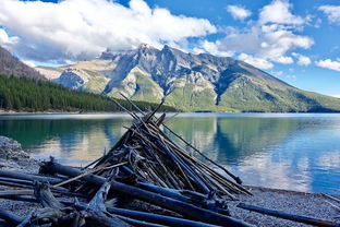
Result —
<instances>
[{"instance_id":1,"label":"huge white cloud bank filling the upper left sky","mask_svg":"<svg viewBox=\"0 0 340 227\"><path fill-rule=\"evenodd\" d=\"M32 60L86 59L107 47L130 49L141 43L160 47L217 31L207 20L150 9L143 0L131 0L129 7L107 0L1 0L0 25L21 37L9 48Z\"/></svg>"}]
</instances>

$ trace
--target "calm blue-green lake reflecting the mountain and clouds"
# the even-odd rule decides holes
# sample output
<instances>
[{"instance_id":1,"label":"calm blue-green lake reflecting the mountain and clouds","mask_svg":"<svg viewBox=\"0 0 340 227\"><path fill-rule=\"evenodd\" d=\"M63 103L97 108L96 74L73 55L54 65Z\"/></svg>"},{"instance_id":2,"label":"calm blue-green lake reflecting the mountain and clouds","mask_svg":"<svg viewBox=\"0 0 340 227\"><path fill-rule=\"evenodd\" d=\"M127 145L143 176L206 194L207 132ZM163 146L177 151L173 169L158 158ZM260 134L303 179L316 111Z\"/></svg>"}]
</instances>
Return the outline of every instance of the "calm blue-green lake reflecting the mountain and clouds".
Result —
<instances>
[{"instance_id":1,"label":"calm blue-green lake reflecting the mountain and clouds","mask_svg":"<svg viewBox=\"0 0 340 227\"><path fill-rule=\"evenodd\" d=\"M120 113L9 115L0 116L0 135L35 158L84 166L131 122ZM340 194L338 113L181 113L167 124L244 184Z\"/></svg>"}]
</instances>

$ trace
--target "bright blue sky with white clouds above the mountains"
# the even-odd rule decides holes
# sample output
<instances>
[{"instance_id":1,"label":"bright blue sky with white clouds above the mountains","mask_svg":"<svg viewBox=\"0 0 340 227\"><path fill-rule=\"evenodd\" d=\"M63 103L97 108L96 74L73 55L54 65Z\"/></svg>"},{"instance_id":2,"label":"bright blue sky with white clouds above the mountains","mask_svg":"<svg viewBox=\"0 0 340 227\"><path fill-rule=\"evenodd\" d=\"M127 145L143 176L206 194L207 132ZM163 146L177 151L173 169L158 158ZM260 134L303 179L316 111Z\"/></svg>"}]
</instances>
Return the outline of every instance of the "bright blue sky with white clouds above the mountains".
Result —
<instances>
[{"instance_id":1,"label":"bright blue sky with white clouds above the mountains","mask_svg":"<svg viewBox=\"0 0 340 227\"><path fill-rule=\"evenodd\" d=\"M165 44L340 97L338 0L1 0L0 45L28 65Z\"/></svg>"}]
</instances>

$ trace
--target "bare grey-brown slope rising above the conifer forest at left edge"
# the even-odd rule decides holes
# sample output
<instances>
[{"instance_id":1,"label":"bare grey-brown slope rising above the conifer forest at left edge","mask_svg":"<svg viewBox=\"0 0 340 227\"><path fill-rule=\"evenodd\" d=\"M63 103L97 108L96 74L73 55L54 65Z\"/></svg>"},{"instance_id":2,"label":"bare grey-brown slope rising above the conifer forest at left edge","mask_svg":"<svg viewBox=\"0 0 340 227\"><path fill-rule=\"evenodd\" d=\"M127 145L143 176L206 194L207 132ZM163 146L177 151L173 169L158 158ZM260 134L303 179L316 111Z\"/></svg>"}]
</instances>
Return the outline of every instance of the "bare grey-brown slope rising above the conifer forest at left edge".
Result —
<instances>
[{"instance_id":1,"label":"bare grey-brown slope rising above the conifer forest at left edge","mask_svg":"<svg viewBox=\"0 0 340 227\"><path fill-rule=\"evenodd\" d=\"M17 58L13 57L8 50L2 48L1 46L0 46L0 75L26 76L45 80L45 77L39 72L26 65Z\"/></svg>"}]
</instances>

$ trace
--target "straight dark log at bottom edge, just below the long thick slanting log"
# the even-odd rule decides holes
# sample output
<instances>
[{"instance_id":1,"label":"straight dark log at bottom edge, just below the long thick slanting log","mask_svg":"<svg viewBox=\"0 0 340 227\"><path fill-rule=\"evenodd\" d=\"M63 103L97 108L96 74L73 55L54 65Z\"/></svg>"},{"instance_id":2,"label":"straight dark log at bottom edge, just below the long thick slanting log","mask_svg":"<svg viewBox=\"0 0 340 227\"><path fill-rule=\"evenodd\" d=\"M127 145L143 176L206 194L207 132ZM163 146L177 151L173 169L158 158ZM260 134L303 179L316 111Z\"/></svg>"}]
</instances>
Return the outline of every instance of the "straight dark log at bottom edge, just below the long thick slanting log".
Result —
<instances>
[{"instance_id":1,"label":"straight dark log at bottom edge, just below the long thick slanting log","mask_svg":"<svg viewBox=\"0 0 340 227\"><path fill-rule=\"evenodd\" d=\"M157 223L157 224L161 224L166 226L216 227L215 225L210 225L206 223L198 223L198 222L183 219L179 217L170 217L166 215L151 214L151 213L146 213L146 212L137 212L137 211L131 211L131 210L124 210L124 208L108 207L107 211L117 215L127 216L127 217L132 217L135 219L147 220L150 223Z\"/></svg>"}]
</instances>

